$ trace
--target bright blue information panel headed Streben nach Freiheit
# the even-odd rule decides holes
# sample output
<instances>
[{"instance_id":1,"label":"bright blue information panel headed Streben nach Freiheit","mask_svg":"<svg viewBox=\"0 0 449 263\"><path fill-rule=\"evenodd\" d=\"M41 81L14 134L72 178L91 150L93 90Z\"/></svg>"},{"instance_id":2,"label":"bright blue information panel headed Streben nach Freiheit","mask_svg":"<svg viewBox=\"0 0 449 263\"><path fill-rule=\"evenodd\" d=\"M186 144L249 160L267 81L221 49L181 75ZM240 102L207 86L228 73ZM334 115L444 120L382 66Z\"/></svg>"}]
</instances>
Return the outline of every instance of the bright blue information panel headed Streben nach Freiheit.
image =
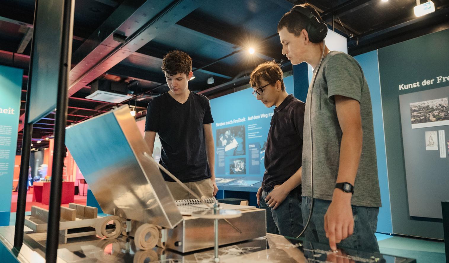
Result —
<instances>
[{"instance_id":1,"label":"bright blue information panel headed Streben nach Freiheit","mask_svg":"<svg viewBox=\"0 0 449 263\"><path fill-rule=\"evenodd\" d=\"M293 76L284 78L284 84L287 93L293 94ZM215 121L212 132L216 141L216 177L257 175L260 180L263 177L274 107L265 107L252 91L248 88L210 101Z\"/></svg>"}]
</instances>

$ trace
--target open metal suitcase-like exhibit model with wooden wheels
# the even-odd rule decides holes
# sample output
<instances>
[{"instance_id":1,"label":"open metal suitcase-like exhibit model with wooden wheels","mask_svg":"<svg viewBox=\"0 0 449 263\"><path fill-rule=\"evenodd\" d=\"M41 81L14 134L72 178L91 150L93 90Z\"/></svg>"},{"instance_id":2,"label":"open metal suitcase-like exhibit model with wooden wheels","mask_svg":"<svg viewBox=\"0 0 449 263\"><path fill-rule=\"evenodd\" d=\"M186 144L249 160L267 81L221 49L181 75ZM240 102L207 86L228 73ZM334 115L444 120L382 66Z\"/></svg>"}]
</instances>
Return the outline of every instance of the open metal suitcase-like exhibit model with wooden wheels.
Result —
<instances>
[{"instance_id":1,"label":"open metal suitcase-like exhibit model with wooden wheels","mask_svg":"<svg viewBox=\"0 0 449 263\"><path fill-rule=\"evenodd\" d=\"M184 253L266 234L262 209L201 197L175 202L159 169L170 172L147 154L126 105L66 129L66 146L101 209L116 220L114 231L107 219L97 223L100 237L124 235L139 249L159 244Z\"/></svg>"}]
</instances>

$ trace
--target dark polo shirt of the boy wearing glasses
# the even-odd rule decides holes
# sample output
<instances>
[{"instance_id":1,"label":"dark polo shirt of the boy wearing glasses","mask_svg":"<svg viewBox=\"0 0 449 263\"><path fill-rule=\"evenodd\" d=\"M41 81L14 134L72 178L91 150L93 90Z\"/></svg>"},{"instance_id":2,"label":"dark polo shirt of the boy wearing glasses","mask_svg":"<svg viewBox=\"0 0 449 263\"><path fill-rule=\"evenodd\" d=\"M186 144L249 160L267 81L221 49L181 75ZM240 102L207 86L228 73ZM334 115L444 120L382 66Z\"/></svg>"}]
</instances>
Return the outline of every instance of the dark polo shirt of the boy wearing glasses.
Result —
<instances>
[{"instance_id":1,"label":"dark polo shirt of the boy wearing glasses","mask_svg":"<svg viewBox=\"0 0 449 263\"><path fill-rule=\"evenodd\" d=\"M282 185L301 167L304 109L305 103L293 95L274 109L265 149L264 191Z\"/></svg>"}]
</instances>

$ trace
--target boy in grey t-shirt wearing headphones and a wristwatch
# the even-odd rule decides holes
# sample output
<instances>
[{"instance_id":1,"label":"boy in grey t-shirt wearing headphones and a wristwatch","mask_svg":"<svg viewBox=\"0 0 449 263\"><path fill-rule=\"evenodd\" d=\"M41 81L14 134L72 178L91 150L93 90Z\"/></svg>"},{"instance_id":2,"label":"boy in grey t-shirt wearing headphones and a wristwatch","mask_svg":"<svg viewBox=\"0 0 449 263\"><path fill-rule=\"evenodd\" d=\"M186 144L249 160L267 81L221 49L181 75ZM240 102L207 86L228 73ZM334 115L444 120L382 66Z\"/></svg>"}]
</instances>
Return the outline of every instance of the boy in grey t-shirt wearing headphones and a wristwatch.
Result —
<instances>
[{"instance_id":1,"label":"boy in grey t-shirt wearing headphones and a wristwatch","mask_svg":"<svg viewBox=\"0 0 449 263\"><path fill-rule=\"evenodd\" d=\"M302 214L308 241L379 252L380 190L370 91L361 66L324 44L327 25L310 4L279 21L282 54L313 67L304 116ZM313 202L313 206L311 206Z\"/></svg>"}]
</instances>

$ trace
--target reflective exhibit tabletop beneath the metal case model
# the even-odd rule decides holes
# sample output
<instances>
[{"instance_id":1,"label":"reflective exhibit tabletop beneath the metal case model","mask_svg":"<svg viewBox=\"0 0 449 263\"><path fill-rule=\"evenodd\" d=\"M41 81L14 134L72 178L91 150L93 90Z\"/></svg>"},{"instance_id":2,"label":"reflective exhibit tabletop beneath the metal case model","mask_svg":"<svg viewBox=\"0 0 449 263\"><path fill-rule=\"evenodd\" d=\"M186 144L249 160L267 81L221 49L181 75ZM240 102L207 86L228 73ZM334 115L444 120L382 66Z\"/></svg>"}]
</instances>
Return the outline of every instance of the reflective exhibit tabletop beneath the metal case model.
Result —
<instances>
[{"instance_id":1,"label":"reflective exhibit tabletop beneath the metal case model","mask_svg":"<svg viewBox=\"0 0 449 263\"><path fill-rule=\"evenodd\" d=\"M14 227L0 227L1 250L9 250L10 259L15 262L44 262L46 233L32 233L25 228L23 246L20 251L13 248ZM100 239L97 236L77 237L65 240L60 236L58 262L121 262L121 263L205 263L212 262L213 249L198 250L180 254L172 250L154 248L137 250L131 238L120 236L117 239ZM4 251L0 251L4 252ZM5 253L2 253L5 254ZM341 249L331 252L328 245L311 243L267 234L245 242L221 246L222 263L280 263L280 262L351 262L351 263L416 263L406 259L379 253ZM7 262L14 262L11 260Z\"/></svg>"}]
</instances>

